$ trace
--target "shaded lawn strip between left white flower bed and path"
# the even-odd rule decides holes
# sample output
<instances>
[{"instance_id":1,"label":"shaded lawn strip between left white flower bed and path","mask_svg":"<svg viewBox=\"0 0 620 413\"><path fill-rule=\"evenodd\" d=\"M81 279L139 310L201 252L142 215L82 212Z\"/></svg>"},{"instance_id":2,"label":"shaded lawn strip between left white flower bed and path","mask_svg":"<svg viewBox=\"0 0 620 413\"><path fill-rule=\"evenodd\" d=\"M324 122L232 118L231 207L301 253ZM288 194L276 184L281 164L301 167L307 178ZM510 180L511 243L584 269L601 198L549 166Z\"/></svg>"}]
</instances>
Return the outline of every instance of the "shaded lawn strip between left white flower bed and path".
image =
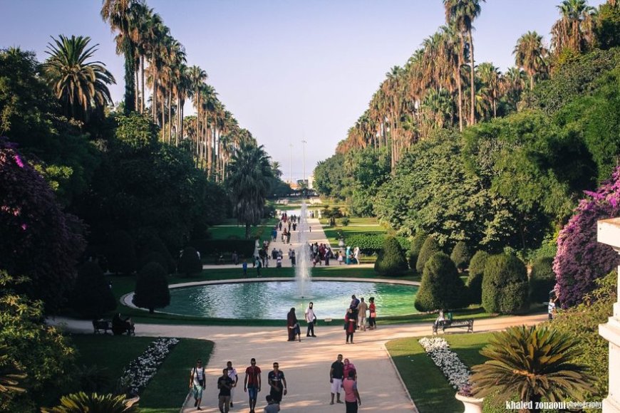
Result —
<instances>
[{"instance_id":1,"label":"shaded lawn strip between left white flower bed and path","mask_svg":"<svg viewBox=\"0 0 620 413\"><path fill-rule=\"evenodd\" d=\"M213 342L182 338L162 363L140 395L140 411L147 413L177 413L187 396L190 370L195 361L207 365Z\"/></svg>"}]
</instances>

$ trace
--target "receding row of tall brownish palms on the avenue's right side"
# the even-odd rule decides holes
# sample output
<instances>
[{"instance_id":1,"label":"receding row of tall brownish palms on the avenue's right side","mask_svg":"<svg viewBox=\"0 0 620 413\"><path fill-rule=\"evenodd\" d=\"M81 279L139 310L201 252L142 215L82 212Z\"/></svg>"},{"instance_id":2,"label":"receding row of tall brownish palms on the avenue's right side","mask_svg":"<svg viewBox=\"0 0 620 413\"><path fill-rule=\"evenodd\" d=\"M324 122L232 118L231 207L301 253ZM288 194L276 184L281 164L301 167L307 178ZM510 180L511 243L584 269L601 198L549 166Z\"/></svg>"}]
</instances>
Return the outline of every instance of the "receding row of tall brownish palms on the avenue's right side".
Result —
<instances>
[{"instance_id":1,"label":"receding row of tall brownish palms on the avenue's right side","mask_svg":"<svg viewBox=\"0 0 620 413\"><path fill-rule=\"evenodd\" d=\"M517 110L528 81L531 90L552 70L554 58L566 49L580 53L592 45L595 10L587 0L564 0L552 28L551 51L542 36L528 31L513 51L515 67L501 73L492 63L475 65L472 28L483 1L443 1L445 26L425 38L404 67L386 73L336 152L388 147L393 169L403 150L434 129L458 125L463 130Z\"/></svg>"}]
</instances>

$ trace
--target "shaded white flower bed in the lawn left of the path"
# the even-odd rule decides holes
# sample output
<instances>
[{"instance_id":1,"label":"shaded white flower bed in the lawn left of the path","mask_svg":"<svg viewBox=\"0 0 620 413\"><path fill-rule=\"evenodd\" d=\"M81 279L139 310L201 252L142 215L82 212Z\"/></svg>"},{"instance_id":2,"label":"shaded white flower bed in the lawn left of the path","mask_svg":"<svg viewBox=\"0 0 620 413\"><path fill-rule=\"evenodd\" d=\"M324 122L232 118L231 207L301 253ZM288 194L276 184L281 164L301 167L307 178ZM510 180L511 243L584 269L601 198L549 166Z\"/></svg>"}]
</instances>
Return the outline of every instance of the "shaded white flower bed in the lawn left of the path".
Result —
<instances>
[{"instance_id":1,"label":"shaded white flower bed in the lawn left of the path","mask_svg":"<svg viewBox=\"0 0 620 413\"><path fill-rule=\"evenodd\" d=\"M153 378L166 356L179 343L176 338L158 338L145 352L129 363L123 371L120 382L127 383L129 394L138 394Z\"/></svg>"}]
</instances>

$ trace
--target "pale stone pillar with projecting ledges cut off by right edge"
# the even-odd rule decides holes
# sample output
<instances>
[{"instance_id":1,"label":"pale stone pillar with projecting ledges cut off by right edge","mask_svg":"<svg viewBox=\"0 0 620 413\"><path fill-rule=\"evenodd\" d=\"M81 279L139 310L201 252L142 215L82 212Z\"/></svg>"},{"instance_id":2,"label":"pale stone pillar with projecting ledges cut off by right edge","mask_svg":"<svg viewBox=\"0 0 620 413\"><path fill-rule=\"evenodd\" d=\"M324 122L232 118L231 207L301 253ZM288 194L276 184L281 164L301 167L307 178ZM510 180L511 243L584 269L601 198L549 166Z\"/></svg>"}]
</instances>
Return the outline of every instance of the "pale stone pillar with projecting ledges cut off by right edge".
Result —
<instances>
[{"instance_id":1,"label":"pale stone pillar with projecting ledges cut off by right edge","mask_svg":"<svg viewBox=\"0 0 620 413\"><path fill-rule=\"evenodd\" d=\"M599 221L597 241L620 253L620 218ZM599 335L609 341L609 394L603 400L603 413L620 413L620 303L614 303L614 315L607 323L599 324Z\"/></svg>"}]
</instances>

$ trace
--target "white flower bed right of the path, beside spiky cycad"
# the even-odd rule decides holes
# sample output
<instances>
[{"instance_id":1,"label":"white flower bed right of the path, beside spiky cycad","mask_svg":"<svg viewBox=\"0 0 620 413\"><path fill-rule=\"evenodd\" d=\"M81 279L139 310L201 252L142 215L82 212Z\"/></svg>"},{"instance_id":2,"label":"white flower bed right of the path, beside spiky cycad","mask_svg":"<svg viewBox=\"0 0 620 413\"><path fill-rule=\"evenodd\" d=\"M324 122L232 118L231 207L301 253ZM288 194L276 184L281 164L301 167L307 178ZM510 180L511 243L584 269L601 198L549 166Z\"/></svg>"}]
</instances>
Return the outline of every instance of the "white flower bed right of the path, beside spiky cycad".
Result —
<instances>
[{"instance_id":1,"label":"white flower bed right of the path, beside spiky cycad","mask_svg":"<svg viewBox=\"0 0 620 413\"><path fill-rule=\"evenodd\" d=\"M440 337L425 337L418 340L418 343L448 378L452 387L460 390L469 384L470 370L460 361L458 355L450 350L447 341Z\"/></svg>"}]
</instances>

